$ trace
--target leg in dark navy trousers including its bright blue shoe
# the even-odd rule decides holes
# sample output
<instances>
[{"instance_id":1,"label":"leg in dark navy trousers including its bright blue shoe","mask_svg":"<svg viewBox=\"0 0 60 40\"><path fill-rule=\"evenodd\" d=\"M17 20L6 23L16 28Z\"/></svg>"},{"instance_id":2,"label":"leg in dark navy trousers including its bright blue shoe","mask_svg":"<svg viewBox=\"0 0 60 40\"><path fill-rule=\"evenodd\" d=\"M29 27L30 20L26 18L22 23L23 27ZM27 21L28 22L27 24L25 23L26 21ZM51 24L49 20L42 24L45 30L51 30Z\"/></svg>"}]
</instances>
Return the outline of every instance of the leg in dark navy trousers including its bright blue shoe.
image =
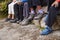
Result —
<instances>
[{"instance_id":1,"label":"leg in dark navy trousers including its bright blue shoe","mask_svg":"<svg viewBox=\"0 0 60 40\"><path fill-rule=\"evenodd\" d=\"M51 0L49 0L49 2L50 1ZM53 1L51 1L51 2L53 3ZM48 16L47 16L47 23L46 23L45 29L41 32L42 35L47 35L50 32L52 32L51 26L53 25L53 23L56 19L57 8L54 7L54 6L52 7L51 2L48 5L50 8L48 10L49 13L48 13Z\"/></svg>"}]
</instances>

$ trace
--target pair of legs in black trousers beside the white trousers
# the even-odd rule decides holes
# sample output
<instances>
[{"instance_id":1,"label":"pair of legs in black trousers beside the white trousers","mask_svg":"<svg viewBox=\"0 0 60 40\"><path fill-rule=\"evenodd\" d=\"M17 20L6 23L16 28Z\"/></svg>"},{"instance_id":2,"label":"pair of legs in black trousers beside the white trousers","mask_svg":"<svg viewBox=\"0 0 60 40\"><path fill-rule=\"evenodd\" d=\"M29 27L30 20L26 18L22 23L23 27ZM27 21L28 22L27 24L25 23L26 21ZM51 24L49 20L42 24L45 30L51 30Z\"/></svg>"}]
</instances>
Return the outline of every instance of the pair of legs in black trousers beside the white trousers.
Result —
<instances>
[{"instance_id":1,"label":"pair of legs in black trousers beside the white trousers","mask_svg":"<svg viewBox=\"0 0 60 40\"><path fill-rule=\"evenodd\" d=\"M14 12L15 12L15 22L19 20L23 20L23 5L16 3L14 5Z\"/></svg>"}]
</instances>

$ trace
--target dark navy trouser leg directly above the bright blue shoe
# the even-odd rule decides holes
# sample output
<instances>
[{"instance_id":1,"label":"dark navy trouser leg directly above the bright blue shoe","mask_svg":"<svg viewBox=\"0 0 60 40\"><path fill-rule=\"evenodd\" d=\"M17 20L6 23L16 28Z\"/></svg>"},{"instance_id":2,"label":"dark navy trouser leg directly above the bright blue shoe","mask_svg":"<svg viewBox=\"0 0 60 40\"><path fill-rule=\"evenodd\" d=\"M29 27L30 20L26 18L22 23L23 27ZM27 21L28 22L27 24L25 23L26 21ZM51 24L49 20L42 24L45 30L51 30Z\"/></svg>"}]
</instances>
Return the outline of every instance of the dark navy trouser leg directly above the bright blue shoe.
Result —
<instances>
[{"instance_id":1,"label":"dark navy trouser leg directly above the bright blue shoe","mask_svg":"<svg viewBox=\"0 0 60 40\"><path fill-rule=\"evenodd\" d=\"M51 27L54 24L54 21L56 20L56 13L57 13L57 8L50 7L47 18L47 25L49 27Z\"/></svg>"}]
</instances>

